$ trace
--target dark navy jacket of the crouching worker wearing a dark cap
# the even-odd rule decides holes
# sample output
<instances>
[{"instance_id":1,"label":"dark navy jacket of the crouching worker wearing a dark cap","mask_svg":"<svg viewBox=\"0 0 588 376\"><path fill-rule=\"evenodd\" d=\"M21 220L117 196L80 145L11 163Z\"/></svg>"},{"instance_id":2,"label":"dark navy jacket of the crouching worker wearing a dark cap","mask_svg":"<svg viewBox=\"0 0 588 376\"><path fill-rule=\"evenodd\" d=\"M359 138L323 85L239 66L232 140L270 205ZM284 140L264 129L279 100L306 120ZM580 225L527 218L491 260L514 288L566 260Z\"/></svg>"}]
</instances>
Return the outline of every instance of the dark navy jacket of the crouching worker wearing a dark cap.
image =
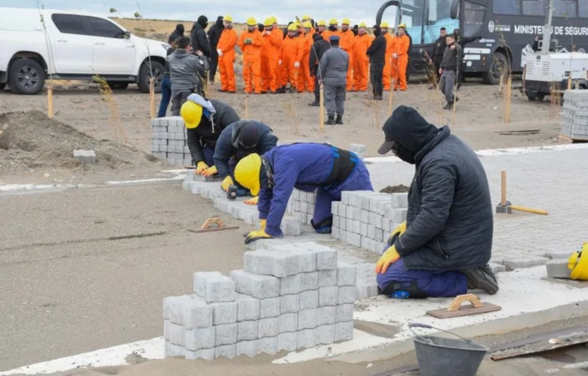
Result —
<instances>
[{"instance_id":1,"label":"dark navy jacket of the crouching worker wearing a dark cap","mask_svg":"<svg viewBox=\"0 0 588 376\"><path fill-rule=\"evenodd\" d=\"M278 137L273 134L272 129L261 122L256 122L254 120L239 120L238 122L225 127L225 129L220 132L220 136L216 141L214 157L216 170L218 170L218 174L222 179L232 175L229 169L229 160L231 158L235 157L236 159L240 159L246 156L245 150L239 149L239 131L245 122L254 123L259 128L258 145L255 150L250 150L251 153L264 155L278 144ZM243 155L238 155L239 150L243 152ZM233 179L233 181L236 180Z\"/></svg>"}]
</instances>

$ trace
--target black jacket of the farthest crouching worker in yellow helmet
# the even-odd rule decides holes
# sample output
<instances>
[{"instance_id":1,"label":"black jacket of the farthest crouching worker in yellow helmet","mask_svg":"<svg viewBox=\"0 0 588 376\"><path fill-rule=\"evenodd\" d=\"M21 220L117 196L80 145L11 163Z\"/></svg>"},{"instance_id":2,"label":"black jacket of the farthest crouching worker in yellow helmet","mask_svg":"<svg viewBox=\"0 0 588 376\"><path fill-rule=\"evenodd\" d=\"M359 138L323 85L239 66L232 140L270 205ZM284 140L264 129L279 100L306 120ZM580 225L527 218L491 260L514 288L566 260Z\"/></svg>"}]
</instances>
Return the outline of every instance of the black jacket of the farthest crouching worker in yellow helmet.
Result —
<instances>
[{"instance_id":1,"label":"black jacket of the farthest crouching worker in yellow helmet","mask_svg":"<svg viewBox=\"0 0 588 376\"><path fill-rule=\"evenodd\" d=\"M188 144L194 163L204 160L202 147L208 145L215 149L220 132L230 124L239 121L239 115L231 106L219 100L211 99L210 101L216 110L215 115L208 119L202 114L202 119L197 127L186 128L186 144Z\"/></svg>"}]
</instances>

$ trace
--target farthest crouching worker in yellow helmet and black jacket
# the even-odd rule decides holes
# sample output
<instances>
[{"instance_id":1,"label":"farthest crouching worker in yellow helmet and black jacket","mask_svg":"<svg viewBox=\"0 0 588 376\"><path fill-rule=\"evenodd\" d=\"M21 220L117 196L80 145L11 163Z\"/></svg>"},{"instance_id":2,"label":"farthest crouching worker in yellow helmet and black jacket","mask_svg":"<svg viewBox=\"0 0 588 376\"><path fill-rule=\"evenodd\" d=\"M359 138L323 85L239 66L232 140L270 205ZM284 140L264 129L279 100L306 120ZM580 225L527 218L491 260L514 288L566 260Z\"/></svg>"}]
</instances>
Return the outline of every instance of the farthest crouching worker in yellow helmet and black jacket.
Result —
<instances>
[{"instance_id":1,"label":"farthest crouching worker in yellow helmet and black jacket","mask_svg":"<svg viewBox=\"0 0 588 376\"><path fill-rule=\"evenodd\" d=\"M206 100L198 94L188 96L180 113L186 125L186 143L192 155L192 163L196 166L195 174L212 171L216 140L223 129L239 121L239 115L226 103ZM216 173L216 169L214 171Z\"/></svg>"}]
</instances>

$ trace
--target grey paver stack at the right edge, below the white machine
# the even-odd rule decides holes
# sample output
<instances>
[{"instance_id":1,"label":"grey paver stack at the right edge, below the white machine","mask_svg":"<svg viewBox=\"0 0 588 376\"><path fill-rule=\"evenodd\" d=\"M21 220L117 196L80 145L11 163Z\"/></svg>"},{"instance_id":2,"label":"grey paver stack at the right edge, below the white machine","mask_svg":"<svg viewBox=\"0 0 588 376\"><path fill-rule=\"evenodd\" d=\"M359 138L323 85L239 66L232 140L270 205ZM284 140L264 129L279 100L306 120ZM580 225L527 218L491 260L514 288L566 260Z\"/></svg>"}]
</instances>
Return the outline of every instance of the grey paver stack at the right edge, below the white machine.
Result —
<instances>
[{"instance_id":1,"label":"grey paver stack at the right edge, below the white machine","mask_svg":"<svg viewBox=\"0 0 588 376\"><path fill-rule=\"evenodd\" d=\"M588 90L566 90L560 135L588 140Z\"/></svg>"}]
</instances>

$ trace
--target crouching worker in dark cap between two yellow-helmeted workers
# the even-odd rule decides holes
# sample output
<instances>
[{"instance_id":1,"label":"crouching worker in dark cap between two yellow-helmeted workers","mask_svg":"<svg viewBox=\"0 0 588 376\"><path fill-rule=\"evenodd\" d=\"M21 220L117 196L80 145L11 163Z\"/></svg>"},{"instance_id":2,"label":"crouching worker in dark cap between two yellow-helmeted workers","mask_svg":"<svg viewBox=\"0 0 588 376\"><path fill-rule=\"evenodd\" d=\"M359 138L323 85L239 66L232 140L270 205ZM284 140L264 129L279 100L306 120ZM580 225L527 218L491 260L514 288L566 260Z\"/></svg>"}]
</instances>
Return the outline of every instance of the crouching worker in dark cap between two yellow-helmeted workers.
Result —
<instances>
[{"instance_id":1,"label":"crouching worker in dark cap between two yellow-helmeted workers","mask_svg":"<svg viewBox=\"0 0 588 376\"><path fill-rule=\"evenodd\" d=\"M233 172L239 160L252 153L264 155L276 147L277 144L278 137L264 123L254 120L239 120L232 123L220 132L215 147L215 165L212 169L208 169L205 175L209 176L209 174L218 173L223 179L221 187L227 191L229 186L234 184ZM247 193L246 189L242 190L245 192L238 191L238 196L245 196ZM253 199L247 200L245 203L255 205L257 202L258 197L253 197Z\"/></svg>"}]
</instances>

